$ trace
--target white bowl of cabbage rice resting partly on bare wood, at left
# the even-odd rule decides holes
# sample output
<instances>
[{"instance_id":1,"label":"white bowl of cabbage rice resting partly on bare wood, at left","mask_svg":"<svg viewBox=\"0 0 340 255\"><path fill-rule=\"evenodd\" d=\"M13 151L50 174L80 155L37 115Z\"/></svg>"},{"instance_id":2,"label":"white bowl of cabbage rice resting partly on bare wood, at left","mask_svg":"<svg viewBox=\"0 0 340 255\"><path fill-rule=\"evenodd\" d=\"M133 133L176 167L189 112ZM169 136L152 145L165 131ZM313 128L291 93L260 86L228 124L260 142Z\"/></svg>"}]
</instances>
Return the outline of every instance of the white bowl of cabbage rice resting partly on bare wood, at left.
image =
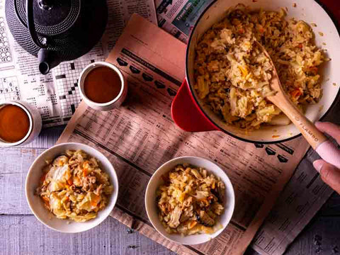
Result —
<instances>
[{"instance_id":1,"label":"white bowl of cabbage rice resting partly on bare wood, at left","mask_svg":"<svg viewBox=\"0 0 340 255\"><path fill-rule=\"evenodd\" d=\"M26 178L35 217L59 232L83 232L108 217L118 198L111 162L93 147L55 145L35 159Z\"/></svg>"}]
</instances>

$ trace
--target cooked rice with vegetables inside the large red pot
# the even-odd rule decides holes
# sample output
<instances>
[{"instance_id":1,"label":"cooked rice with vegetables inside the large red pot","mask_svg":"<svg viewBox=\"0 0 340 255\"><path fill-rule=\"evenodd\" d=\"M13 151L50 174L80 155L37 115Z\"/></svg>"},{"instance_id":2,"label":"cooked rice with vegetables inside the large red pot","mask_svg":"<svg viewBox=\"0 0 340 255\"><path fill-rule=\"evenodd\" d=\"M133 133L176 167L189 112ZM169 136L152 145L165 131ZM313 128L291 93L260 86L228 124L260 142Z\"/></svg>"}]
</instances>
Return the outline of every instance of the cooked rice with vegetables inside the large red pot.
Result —
<instances>
[{"instance_id":1,"label":"cooked rice with vegetables inside the large red pot","mask_svg":"<svg viewBox=\"0 0 340 255\"><path fill-rule=\"evenodd\" d=\"M322 96L319 65L327 61L304 21L280 11L251 11L238 5L200 38L196 47L195 89L228 124L259 128L283 113L266 100L272 67L255 40L268 51L283 89L302 109ZM278 116L280 115L280 116ZM274 118L275 120L275 118Z\"/></svg>"}]
</instances>

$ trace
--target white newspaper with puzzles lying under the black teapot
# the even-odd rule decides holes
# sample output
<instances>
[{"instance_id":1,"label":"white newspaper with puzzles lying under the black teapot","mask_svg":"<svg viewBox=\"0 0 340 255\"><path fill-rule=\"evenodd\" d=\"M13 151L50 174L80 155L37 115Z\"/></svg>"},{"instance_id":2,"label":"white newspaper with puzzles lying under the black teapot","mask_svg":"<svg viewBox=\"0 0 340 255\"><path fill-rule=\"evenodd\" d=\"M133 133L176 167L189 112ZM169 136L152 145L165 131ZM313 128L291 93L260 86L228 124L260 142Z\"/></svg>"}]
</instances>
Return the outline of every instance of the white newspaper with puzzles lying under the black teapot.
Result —
<instances>
[{"instance_id":1,"label":"white newspaper with puzzles lying under the black teapot","mask_svg":"<svg viewBox=\"0 0 340 255\"><path fill-rule=\"evenodd\" d=\"M22 100L38 108L44 127L66 124L81 101L77 80L86 65L103 61L112 50L132 13L157 23L153 0L108 0L108 26L101 42L77 60L62 62L41 75L38 60L13 39L0 1L0 103Z\"/></svg>"}]
</instances>

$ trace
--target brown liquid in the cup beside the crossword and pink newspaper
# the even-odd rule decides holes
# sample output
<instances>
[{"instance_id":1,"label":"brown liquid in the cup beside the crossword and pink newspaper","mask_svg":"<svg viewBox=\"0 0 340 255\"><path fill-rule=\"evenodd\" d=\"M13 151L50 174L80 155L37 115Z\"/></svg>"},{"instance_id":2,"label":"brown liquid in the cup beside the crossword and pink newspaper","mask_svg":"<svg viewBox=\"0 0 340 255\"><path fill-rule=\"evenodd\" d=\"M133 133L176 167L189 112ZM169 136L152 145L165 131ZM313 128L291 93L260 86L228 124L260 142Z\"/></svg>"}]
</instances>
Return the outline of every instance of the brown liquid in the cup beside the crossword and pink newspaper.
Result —
<instances>
[{"instance_id":1,"label":"brown liquid in the cup beside the crossword and pink newspaper","mask_svg":"<svg viewBox=\"0 0 340 255\"><path fill-rule=\"evenodd\" d=\"M113 101L122 88L122 81L115 70L110 67L96 67L87 74L84 81L84 92L87 98L95 103Z\"/></svg>"}]
</instances>

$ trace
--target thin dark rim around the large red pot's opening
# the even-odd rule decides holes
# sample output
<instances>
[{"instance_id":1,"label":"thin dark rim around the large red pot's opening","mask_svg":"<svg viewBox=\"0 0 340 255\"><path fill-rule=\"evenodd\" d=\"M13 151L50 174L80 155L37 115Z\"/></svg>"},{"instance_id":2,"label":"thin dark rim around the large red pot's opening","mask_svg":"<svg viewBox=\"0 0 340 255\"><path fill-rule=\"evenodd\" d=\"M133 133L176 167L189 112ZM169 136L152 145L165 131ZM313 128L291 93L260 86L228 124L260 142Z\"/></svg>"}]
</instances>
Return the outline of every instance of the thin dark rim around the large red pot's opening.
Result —
<instances>
[{"instance_id":1,"label":"thin dark rim around the large red pot's opening","mask_svg":"<svg viewBox=\"0 0 340 255\"><path fill-rule=\"evenodd\" d=\"M193 39L193 34L197 28L197 25L198 23L200 22L201 18L204 16L204 14L212 7L212 5L214 5L218 0L214 0L212 1L206 8L205 10L200 13L200 16L198 17L198 19L196 20L194 26L193 26L193 30L191 31L190 33L190 36L189 36L189 39L188 39L188 44L187 44L187 47L186 47L186 81L188 83L188 87L191 91L191 95L193 97L193 99L195 100L195 103L197 104L197 106L200 108L200 110L203 112L203 114L205 115L206 118L208 118L208 120L210 121L210 123L212 123L213 125L215 125L220 131L224 132L225 134L227 135L230 135L231 137L234 137L238 140L242 140L243 142L250 142L250 143L253 143L253 144L260 144L260 145L273 145L273 144L277 144L277 143L280 143L280 142L288 142L290 140L293 140L297 137L300 137L302 134L298 134L298 135L295 135L295 136L292 136L292 137L289 137L289 138L286 138L286 139L283 139L283 140L275 140L275 141L266 141L266 142L263 142L263 141L254 141L254 140L248 140L246 138L242 138L242 137L239 137L237 135L234 135L232 134L231 132L225 130L224 128L220 127L220 125L218 125L217 123L215 123L215 121L212 120L212 118L210 118L210 116L208 115L208 113L205 112L204 108L202 106L200 106L200 103L198 102L196 96L195 96L195 93L193 91L193 87L191 86L191 83L188 79L188 55L189 55L189 45L191 44L191 40ZM331 21L334 23L334 26L336 27L336 30L338 32L338 35L340 37L340 20L338 21L336 19L336 16L331 13L331 11L329 11L329 9L327 8L327 6L325 6L325 4L323 4L320 0L314 0L317 4L319 4L319 6L324 9L324 11L327 13L327 15L329 16L329 18L331 18ZM338 91L338 93L336 94L336 97L334 98L334 101L331 103L331 106L329 106L328 110L326 111L326 113L324 113L324 115L321 116L321 118L319 118L319 120L323 120L328 114L330 111L332 111L334 109L334 107L336 106L336 102L338 101L340 97L340 89Z\"/></svg>"}]
</instances>

